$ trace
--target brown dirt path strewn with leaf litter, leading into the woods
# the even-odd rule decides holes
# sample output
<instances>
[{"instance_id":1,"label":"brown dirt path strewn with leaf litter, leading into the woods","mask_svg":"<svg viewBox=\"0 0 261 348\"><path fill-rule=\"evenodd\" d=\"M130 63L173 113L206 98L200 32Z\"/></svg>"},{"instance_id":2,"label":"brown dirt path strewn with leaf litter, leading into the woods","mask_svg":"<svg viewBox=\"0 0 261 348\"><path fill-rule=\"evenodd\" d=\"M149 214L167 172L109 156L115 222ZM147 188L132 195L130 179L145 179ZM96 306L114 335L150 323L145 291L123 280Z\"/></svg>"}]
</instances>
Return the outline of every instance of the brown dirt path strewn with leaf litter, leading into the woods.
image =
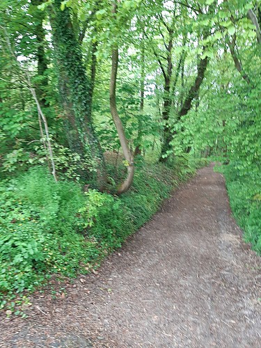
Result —
<instances>
[{"instance_id":1,"label":"brown dirt path strewn with leaf litter, leading into the woods","mask_svg":"<svg viewBox=\"0 0 261 348\"><path fill-rule=\"evenodd\" d=\"M65 299L3 319L0 347L261 347L260 258L242 243L212 167Z\"/></svg>"}]
</instances>

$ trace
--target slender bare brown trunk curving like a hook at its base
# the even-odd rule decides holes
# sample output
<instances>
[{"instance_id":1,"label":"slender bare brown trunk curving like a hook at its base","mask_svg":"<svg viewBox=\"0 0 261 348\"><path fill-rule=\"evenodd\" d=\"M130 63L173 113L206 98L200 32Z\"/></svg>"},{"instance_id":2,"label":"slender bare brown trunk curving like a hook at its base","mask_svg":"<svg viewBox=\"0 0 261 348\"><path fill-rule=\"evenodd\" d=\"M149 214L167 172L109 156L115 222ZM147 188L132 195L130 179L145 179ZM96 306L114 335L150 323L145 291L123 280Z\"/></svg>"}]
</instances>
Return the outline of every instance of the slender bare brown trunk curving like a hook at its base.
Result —
<instances>
[{"instance_id":1,"label":"slender bare brown trunk curving like a hook at its base","mask_svg":"<svg viewBox=\"0 0 261 348\"><path fill-rule=\"evenodd\" d=\"M122 122L120 120L120 116L118 115L118 110L116 105L117 71L118 71L118 49L114 48L112 52L112 58L111 58L111 84L110 84L111 116L113 118L114 124L116 125L123 155L127 161L127 177L124 180L124 182L122 182L122 184L118 186L118 189L117 189L117 193L118 195L120 195L121 193L124 193L125 191L127 191L129 187L131 187L132 185L132 181L134 177L134 159L132 156L132 152L129 149L127 138L125 136L125 132L122 127Z\"/></svg>"}]
</instances>

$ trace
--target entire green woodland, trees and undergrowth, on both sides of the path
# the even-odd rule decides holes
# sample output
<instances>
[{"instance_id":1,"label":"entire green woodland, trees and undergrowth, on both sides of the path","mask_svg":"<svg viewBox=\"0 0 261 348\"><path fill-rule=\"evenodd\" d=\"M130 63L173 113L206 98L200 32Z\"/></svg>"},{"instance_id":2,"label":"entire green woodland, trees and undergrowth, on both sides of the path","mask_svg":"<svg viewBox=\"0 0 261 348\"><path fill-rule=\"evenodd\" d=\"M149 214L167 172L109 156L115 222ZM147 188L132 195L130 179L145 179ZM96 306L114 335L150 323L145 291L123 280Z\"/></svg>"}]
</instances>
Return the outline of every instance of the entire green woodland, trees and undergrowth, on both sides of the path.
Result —
<instances>
[{"instance_id":1,"label":"entire green woodland, trees and undergrowth, on both sides of the path","mask_svg":"<svg viewBox=\"0 0 261 348\"><path fill-rule=\"evenodd\" d=\"M1 306L98 264L200 158L261 253L260 27L260 0L1 1Z\"/></svg>"}]
</instances>

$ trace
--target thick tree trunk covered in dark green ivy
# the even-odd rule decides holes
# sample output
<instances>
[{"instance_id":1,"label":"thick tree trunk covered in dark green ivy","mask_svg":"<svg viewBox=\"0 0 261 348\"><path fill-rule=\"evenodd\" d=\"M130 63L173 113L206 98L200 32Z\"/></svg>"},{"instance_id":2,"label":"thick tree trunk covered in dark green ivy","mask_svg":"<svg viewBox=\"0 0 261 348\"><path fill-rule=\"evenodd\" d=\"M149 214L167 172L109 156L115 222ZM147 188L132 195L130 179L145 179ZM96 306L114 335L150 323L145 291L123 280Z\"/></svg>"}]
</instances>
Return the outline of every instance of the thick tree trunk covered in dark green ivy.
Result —
<instances>
[{"instance_id":1,"label":"thick tree trunk covered in dark green ivy","mask_svg":"<svg viewBox=\"0 0 261 348\"><path fill-rule=\"evenodd\" d=\"M91 83L86 75L69 8L61 10L61 0L55 0L50 19L68 143L73 151L77 150L80 155L90 157L91 164L86 177L93 180L93 173L97 173L95 180L100 189L103 189L106 171L102 149L91 119Z\"/></svg>"}]
</instances>

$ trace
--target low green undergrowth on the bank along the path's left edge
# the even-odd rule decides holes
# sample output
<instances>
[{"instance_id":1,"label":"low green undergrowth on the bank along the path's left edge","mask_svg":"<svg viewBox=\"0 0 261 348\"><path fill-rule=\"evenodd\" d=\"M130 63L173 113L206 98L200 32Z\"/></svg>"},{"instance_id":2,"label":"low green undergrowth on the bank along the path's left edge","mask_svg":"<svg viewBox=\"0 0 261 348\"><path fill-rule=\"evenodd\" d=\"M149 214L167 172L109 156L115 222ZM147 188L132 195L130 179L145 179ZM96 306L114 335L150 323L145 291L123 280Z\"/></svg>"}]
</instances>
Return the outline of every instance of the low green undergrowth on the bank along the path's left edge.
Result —
<instances>
[{"instance_id":1,"label":"low green undergrowth on the bank along the path's left edge","mask_svg":"<svg viewBox=\"0 0 261 348\"><path fill-rule=\"evenodd\" d=\"M52 274L86 273L120 247L195 169L185 157L170 166L139 164L132 189L120 198L84 192L68 180L56 183L41 166L2 181L0 308L20 314L15 303Z\"/></svg>"}]
</instances>

